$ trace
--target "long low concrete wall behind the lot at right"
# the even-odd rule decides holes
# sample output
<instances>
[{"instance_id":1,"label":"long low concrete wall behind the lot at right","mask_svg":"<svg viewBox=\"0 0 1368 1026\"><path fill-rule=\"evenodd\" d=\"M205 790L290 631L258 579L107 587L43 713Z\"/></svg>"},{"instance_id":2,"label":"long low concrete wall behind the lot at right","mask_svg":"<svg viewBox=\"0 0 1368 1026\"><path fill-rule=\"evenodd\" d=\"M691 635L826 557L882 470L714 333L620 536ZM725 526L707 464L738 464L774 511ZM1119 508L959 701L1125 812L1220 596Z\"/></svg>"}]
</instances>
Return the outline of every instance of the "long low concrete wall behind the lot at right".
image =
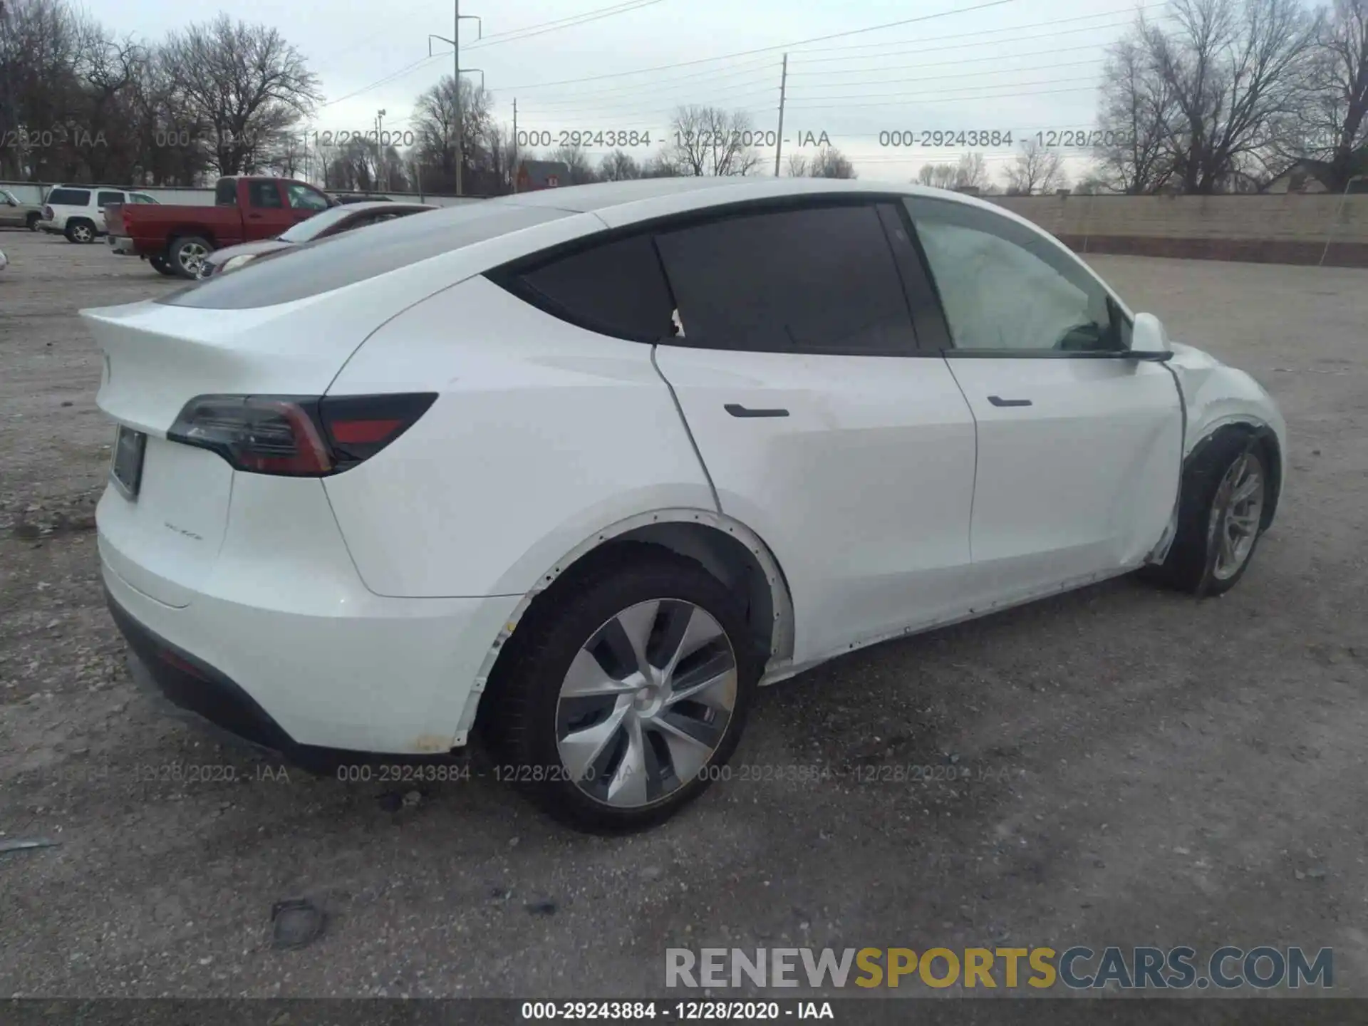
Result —
<instances>
[{"instance_id":1,"label":"long low concrete wall behind the lot at right","mask_svg":"<svg viewBox=\"0 0 1368 1026\"><path fill-rule=\"evenodd\" d=\"M986 198L1079 252L1368 267L1363 194Z\"/></svg>"}]
</instances>

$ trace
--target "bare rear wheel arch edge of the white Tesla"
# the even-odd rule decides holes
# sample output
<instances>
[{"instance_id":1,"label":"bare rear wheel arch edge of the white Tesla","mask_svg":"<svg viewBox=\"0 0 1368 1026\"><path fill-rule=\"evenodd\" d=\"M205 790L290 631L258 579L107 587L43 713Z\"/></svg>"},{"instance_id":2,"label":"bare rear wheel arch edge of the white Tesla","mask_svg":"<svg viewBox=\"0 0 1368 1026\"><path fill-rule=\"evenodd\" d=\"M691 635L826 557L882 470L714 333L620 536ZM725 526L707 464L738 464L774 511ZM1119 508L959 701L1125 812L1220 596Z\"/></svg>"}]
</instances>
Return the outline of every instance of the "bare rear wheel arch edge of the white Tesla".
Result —
<instances>
[{"instance_id":1,"label":"bare rear wheel arch edge of the white Tesla","mask_svg":"<svg viewBox=\"0 0 1368 1026\"><path fill-rule=\"evenodd\" d=\"M762 663L793 655L793 599L788 579L770 547L754 531L731 517L702 509L668 509L640 513L595 532L566 553L538 579L518 602L494 639L476 677L457 743L490 715L494 705L482 700L486 685L497 681L501 659L513 648L517 628L528 617L554 613L555 596L573 587L577 577L601 570L614 561L629 562L651 547L681 555L703 566L728 590L739 592L747 628ZM510 658L510 657L509 657Z\"/></svg>"}]
</instances>

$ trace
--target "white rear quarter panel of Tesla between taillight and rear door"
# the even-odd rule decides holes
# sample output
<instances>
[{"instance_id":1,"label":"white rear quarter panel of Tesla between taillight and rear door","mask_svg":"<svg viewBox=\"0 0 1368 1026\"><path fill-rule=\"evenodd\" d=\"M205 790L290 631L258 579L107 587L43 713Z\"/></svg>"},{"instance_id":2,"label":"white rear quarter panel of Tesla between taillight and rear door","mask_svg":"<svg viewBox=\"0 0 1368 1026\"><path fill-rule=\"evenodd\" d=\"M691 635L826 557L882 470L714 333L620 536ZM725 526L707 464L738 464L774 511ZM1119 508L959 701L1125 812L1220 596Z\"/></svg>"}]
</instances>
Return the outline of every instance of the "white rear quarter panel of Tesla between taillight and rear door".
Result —
<instances>
[{"instance_id":1,"label":"white rear quarter panel of Tesla between taillight and rear door","mask_svg":"<svg viewBox=\"0 0 1368 1026\"><path fill-rule=\"evenodd\" d=\"M387 449L324 479L380 595L531 591L595 532L715 512L651 346L557 320L483 276L394 317L330 395L436 391Z\"/></svg>"}]
</instances>

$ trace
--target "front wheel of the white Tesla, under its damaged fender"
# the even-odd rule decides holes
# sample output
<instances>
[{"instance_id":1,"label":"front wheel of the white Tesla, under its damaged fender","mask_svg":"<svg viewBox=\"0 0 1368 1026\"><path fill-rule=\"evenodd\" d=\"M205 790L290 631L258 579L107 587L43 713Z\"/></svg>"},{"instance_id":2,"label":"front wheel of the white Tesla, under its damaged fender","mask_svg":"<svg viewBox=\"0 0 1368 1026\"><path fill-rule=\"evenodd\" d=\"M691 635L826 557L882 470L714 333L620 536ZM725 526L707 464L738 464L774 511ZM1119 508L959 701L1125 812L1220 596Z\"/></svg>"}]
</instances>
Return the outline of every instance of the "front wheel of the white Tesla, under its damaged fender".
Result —
<instances>
[{"instance_id":1,"label":"front wheel of the white Tesla, under its damaged fender","mask_svg":"<svg viewBox=\"0 0 1368 1026\"><path fill-rule=\"evenodd\" d=\"M1183 472L1178 534L1164 562L1146 576L1197 598L1235 587L1259 547L1271 480L1268 454L1257 438L1239 428L1218 431ZM1233 502L1241 494L1237 488L1250 487L1250 498ZM1223 535L1235 539L1224 549Z\"/></svg>"}]
</instances>

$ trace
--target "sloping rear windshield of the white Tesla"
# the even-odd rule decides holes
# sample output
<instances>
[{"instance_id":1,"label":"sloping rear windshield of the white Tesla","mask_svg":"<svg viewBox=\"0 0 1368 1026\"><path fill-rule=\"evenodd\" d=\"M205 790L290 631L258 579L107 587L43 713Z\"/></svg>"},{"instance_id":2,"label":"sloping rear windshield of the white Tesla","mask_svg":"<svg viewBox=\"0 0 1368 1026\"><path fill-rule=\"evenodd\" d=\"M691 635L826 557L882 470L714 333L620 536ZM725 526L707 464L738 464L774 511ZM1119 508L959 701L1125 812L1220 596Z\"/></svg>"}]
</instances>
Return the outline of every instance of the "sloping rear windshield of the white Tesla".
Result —
<instances>
[{"instance_id":1,"label":"sloping rear windshield of the white Tesla","mask_svg":"<svg viewBox=\"0 0 1368 1026\"><path fill-rule=\"evenodd\" d=\"M157 302L211 311L274 306L566 216L566 211L551 207L512 207L482 200L430 211L421 218L395 218L365 231L301 242L253 260L230 275L179 289Z\"/></svg>"}]
</instances>

